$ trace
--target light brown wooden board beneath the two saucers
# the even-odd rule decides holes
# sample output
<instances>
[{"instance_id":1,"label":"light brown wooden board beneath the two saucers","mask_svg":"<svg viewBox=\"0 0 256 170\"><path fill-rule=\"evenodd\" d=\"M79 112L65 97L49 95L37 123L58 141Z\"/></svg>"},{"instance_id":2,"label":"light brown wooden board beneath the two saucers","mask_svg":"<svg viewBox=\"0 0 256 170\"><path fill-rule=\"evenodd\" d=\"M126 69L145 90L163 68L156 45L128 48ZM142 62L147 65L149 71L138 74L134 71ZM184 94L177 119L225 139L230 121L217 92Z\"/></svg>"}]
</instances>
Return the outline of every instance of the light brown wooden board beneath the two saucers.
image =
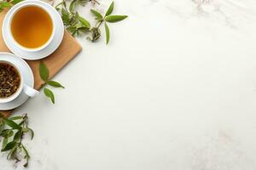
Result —
<instances>
[{"instance_id":1,"label":"light brown wooden board beneath the two saucers","mask_svg":"<svg viewBox=\"0 0 256 170\"><path fill-rule=\"evenodd\" d=\"M3 18L8 10L4 10L2 13L0 13L0 28L2 28L3 24ZM49 78L52 78L55 76L55 74L61 70L67 63L73 59L76 54L79 54L82 47L66 30L64 33L63 40L61 42L61 45L57 50L50 54L47 58L42 59L45 63L45 65L49 68ZM0 29L0 52L10 52L9 48L6 47L6 45L3 42L3 36L2 36L2 29ZM44 81L41 80L38 67L40 60L26 60L28 65L30 65L35 83L34 88L40 89L41 85L44 84ZM13 110L12 110L13 111ZM12 111L1 111L4 116L9 116Z\"/></svg>"}]
</instances>

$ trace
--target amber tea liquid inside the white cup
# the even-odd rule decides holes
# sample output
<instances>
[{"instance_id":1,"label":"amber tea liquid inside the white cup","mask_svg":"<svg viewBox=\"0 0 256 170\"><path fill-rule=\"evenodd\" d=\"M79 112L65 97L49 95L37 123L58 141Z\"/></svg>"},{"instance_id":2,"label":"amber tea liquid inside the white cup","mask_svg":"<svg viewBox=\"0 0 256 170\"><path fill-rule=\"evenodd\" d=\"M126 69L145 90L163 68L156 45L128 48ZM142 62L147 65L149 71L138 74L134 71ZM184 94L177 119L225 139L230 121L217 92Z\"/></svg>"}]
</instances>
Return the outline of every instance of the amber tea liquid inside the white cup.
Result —
<instances>
[{"instance_id":1,"label":"amber tea liquid inside the white cup","mask_svg":"<svg viewBox=\"0 0 256 170\"><path fill-rule=\"evenodd\" d=\"M15 41L25 48L39 48L48 42L53 23L43 8L26 6L16 12L11 21Z\"/></svg>"}]
</instances>

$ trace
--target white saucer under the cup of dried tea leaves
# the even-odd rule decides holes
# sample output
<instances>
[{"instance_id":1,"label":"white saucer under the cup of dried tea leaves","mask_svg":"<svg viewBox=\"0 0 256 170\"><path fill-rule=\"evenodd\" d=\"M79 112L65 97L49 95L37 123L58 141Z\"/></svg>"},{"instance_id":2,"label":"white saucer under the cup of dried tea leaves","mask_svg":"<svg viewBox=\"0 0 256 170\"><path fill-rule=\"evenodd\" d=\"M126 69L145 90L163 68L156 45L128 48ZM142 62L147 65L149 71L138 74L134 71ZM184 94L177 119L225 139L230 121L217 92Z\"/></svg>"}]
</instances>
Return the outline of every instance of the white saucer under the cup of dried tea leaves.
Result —
<instances>
[{"instance_id":1,"label":"white saucer under the cup of dried tea leaves","mask_svg":"<svg viewBox=\"0 0 256 170\"><path fill-rule=\"evenodd\" d=\"M20 57L16 56L15 54L9 53L0 53L0 59L11 59L13 63L15 63L15 65L18 67L18 69L20 69L20 74L22 74L22 76L24 77L24 82L28 86L34 87L34 76L31 68L29 67L29 65L27 65L25 60L20 59ZM16 107L24 104L27 99L28 96L24 93L21 93L20 96L18 96L15 100L8 103L0 104L0 111L15 109Z\"/></svg>"}]
</instances>

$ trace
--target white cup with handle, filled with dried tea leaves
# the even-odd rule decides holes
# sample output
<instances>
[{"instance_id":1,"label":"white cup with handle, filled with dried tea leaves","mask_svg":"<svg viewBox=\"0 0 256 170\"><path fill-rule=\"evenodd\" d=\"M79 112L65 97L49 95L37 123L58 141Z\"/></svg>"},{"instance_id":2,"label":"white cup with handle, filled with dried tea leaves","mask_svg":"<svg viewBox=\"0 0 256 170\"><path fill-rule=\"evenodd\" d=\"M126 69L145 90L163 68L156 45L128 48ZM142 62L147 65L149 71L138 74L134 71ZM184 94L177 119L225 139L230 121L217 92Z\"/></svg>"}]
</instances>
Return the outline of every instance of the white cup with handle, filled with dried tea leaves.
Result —
<instances>
[{"instance_id":1,"label":"white cup with handle, filled with dried tea leaves","mask_svg":"<svg viewBox=\"0 0 256 170\"><path fill-rule=\"evenodd\" d=\"M21 93L34 97L38 91L24 82L20 69L9 60L0 59L0 103L8 103Z\"/></svg>"}]
</instances>

